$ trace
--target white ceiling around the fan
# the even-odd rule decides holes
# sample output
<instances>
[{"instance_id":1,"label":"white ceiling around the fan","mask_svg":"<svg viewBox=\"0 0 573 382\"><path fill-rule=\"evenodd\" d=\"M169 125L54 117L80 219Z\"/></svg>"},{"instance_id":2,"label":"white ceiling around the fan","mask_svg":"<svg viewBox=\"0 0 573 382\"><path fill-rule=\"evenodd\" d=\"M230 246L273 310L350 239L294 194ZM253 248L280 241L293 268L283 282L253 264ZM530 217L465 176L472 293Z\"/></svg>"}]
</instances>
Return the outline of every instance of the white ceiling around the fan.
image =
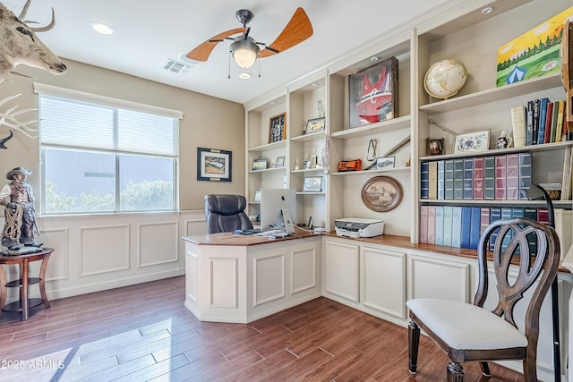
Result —
<instances>
[{"instance_id":1,"label":"white ceiling around the fan","mask_svg":"<svg viewBox=\"0 0 573 382\"><path fill-rule=\"evenodd\" d=\"M45 25L50 20L50 8L55 9L56 27L38 36L62 58L244 103L451 1L32 0L26 18ZM4 0L3 4L18 15L25 0ZM242 8L254 13L250 36L270 44L298 6L308 14L314 34L279 55L262 58L260 78L258 63L250 70L250 80L236 77L239 67L235 63L231 63L232 78L227 78L231 41L219 43L209 60L193 65L190 72L164 69L168 59L183 61L181 56L206 39L240 28L235 12ZM96 33L90 27L92 21L107 23L115 34Z\"/></svg>"}]
</instances>

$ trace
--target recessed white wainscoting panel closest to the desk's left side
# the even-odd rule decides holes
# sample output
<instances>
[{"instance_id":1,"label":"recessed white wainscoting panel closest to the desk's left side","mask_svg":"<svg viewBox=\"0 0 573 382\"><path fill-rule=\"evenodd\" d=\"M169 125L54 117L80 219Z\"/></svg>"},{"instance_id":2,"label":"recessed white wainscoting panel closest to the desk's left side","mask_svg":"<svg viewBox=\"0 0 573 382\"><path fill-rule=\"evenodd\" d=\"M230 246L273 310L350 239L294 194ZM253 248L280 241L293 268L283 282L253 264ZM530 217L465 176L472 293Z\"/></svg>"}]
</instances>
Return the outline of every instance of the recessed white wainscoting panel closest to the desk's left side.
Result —
<instances>
[{"instance_id":1,"label":"recessed white wainscoting panel closest to the desk's left side","mask_svg":"<svg viewBox=\"0 0 573 382\"><path fill-rule=\"evenodd\" d=\"M138 225L138 267L179 260L179 225L176 221Z\"/></svg>"}]
</instances>

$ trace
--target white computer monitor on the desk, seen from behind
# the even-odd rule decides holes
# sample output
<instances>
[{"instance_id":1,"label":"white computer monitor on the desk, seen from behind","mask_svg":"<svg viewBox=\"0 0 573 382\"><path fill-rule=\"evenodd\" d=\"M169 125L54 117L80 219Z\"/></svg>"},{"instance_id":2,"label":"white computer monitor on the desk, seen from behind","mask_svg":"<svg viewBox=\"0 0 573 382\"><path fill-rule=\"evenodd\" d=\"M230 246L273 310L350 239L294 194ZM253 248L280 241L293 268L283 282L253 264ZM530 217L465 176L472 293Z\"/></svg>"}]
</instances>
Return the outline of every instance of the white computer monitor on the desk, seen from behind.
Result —
<instances>
[{"instance_id":1,"label":"white computer monitor on the desk, seen from behind","mask_svg":"<svg viewBox=\"0 0 573 382\"><path fill-rule=\"evenodd\" d=\"M285 224L282 209L288 210L292 226ZM296 191L293 189L261 189L261 230L286 228L292 232L296 224Z\"/></svg>"}]
</instances>

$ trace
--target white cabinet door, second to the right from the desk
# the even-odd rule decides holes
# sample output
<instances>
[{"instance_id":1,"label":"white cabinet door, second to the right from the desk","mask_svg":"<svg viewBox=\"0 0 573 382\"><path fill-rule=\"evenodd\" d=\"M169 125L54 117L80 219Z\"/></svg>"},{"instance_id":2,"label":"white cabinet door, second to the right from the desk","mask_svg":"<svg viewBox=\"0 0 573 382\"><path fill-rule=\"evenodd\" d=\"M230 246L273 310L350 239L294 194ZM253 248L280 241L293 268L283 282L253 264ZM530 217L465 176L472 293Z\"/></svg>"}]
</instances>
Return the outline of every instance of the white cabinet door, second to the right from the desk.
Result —
<instances>
[{"instance_id":1,"label":"white cabinet door, second to the right from the desk","mask_svg":"<svg viewBox=\"0 0 573 382\"><path fill-rule=\"evenodd\" d=\"M363 305L406 319L406 253L363 247L361 270Z\"/></svg>"}]
</instances>

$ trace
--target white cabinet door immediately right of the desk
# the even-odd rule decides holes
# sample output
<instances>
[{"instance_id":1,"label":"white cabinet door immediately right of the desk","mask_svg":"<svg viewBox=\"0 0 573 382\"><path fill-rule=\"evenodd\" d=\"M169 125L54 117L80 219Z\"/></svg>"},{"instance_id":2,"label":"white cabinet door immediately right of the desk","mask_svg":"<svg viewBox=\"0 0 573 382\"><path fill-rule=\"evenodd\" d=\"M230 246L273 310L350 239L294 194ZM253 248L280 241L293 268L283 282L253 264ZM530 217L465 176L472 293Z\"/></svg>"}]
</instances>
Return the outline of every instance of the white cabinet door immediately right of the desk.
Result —
<instances>
[{"instance_id":1,"label":"white cabinet door immediately right of the desk","mask_svg":"<svg viewBox=\"0 0 573 382\"><path fill-rule=\"evenodd\" d=\"M358 264L360 248L355 244L324 243L324 289L348 301L359 301Z\"/></svg>"}]
</instances>

